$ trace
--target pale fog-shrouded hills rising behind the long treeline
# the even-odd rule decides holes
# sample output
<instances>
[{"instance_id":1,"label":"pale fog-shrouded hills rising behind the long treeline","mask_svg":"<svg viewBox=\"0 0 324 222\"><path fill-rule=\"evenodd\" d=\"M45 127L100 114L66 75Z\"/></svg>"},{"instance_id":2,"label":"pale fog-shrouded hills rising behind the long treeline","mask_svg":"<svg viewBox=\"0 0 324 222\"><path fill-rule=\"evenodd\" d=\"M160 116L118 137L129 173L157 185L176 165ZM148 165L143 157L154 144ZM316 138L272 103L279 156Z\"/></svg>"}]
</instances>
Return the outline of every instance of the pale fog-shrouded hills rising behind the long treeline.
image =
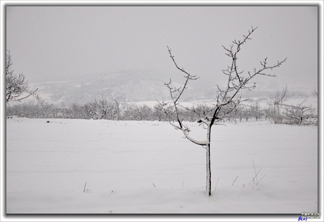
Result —
<instances>
[{"instance_id":1,"label":"pale fog-shrouded hills rising behind the long treeline","mask_svg":"<svg viewBox=\"0 0 324 222\"><path fill-rule=\"evenodd\" d=\"M180 72L174 71L157 72L151 70L125 70L105 74L87 75L79 77L78 80L58 80L51 82L30 83L32 89L38 88L38 94L47 102L54 104L86 103L94 101L101 95L111 98L122 96L127 102L168 100L169 91L164 86L172 78L172 84L179 87L183 84L184 78ZM243 91L247 97L262 97L273 95L277 88L287 84L293 94L310 93L311 89L293 87L289 83L273 85L273 77L260 76L257 79L257 88ZM278 78L278 77L275 77ZM258 81L259 79L259 81ZM224 80L222 80L224 81ZM184 101L210 100L217 96L217 85L224 85L222 81L215 78L204 78L191 81L183 95ZM223 84L222 84L223 83Z\"/></svg>"}]
</instances>

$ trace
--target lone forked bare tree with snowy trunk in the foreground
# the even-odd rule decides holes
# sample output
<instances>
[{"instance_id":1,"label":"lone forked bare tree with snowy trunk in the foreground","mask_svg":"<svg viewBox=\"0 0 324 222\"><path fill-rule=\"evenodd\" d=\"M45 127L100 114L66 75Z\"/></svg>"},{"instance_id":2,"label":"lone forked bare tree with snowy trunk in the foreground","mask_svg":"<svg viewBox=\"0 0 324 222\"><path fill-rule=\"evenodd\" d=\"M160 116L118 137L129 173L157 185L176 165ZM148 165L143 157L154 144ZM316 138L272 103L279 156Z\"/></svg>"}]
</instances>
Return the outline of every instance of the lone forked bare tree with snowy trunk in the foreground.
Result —
<instances>
[{"instance_id":1,"label":"lone forked bare tree with snowy trunk in the foreground","mask_svg":"<svg viewBox=\"0 0 324 222\"><path fill-rule=\"evenodd\" d=\"M197 144L206 150L206 194L211 195L211 168L210 168L210 138L211 138L211 128L214 124L225 117L230 111L232 111L236 106L238 106L241 102L245 101L239 95L239 92L242 89L254 88L255 83L252 85L248 85L250 80L256 75L265 75L265 76L275 76L274 74L270 74L269 71L272 69L279 67L283 64L286 59L281 62L277 62L274 65L267 64L267 58L265 58L260 63L260 67L257 69L253 69L252 72L245 73L244 71L240 71L238 69L238 55L241 51L241 47L251 39L251 34L256 30L256 28L249 30L247 36L243 36L242 40L234 40L232 44L227 48L223 46L226 51L226 55L230 59L230 65L227 66L227 69L222 70L223 74L227 75L227 84L224 88L218 87L218 96L216 101L211 104L212 108L210 110L210 114L203 117L199 117L197 119L197 123L199 125L203 125L206 129L206 139L205 140L196 140L191 135L191 129L184 123L183 118L179 115L180 104L179 99L183 95L185 89L187 89L188 82L190 80L196 80L198 77L196 75L192 75L189 72L185 71L183 68L180 68L176 61L174 60L174 56L171 53L171 48L167 47L168 53L174 63L175 67L183 74L185 78L185 82L181 87L176 87L172 85L172 81L170 79L169 83L164 83L168 88L172 101L171 102L160 102L160 105L163 106L163 111L168 116L170 124L177 130L181 130L186 139ZM227 111L222 111L228 104L231 104L232 109L227 109Z\"/></svg>"}]
</instances>

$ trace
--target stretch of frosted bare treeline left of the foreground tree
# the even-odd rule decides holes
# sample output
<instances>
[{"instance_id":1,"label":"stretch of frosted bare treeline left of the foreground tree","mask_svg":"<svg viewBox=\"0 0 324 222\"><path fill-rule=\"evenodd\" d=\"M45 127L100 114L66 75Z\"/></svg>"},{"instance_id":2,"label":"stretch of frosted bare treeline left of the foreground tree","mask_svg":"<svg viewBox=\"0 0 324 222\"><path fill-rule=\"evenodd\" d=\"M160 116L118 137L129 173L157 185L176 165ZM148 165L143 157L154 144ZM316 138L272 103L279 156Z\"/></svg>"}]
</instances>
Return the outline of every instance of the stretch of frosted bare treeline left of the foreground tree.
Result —
<instances>
[{"instance_id":1,"label":"stretch of frosted bare treeline left of the foreground tree","mask_svg":"<svg viewBox=\"0 0 324 222\"><path fill-rule=\"evenodd\" d=\"M123 98L107 99L103 96L85 104L71 103L57 106L39 100L7 105L7 116L27 118L70 118L70 119L109 119L109 120L158 120L167 121L158 109L147 105L135 106L125 103Z\"/></svg>"}]
</instances>

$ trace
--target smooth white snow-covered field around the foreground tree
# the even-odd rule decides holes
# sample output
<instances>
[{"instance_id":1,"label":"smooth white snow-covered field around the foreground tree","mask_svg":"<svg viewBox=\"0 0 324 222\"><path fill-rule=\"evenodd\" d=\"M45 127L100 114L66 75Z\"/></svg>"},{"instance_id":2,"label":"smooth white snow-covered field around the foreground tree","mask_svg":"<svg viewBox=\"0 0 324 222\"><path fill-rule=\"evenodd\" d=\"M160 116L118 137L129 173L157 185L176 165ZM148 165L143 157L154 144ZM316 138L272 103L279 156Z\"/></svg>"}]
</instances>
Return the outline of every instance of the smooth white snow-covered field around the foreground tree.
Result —
<instances>
[{"instance_id":1,"label":"smooth white snow-covered field around the foreground tree","mask_svg":"<svg viewBox=\"0 0 324 222\"><path fill-rule=\"evenodd\" d=\"M317 126L214 126L211 197L205 149L169 123L10 118L6 128L8 214L318 211Z\"/></svg>"}]
</instances>

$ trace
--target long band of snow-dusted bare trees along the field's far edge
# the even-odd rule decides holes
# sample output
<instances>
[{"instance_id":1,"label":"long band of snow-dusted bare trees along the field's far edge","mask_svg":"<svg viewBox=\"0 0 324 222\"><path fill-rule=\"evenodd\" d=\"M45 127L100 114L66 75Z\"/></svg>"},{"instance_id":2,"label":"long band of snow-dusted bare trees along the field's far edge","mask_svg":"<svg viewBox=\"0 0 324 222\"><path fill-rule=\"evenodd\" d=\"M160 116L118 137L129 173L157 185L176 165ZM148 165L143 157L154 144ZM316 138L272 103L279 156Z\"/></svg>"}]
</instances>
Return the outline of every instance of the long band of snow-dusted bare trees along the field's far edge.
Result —
<instances>
[{"instance_id":1,"label":"long band of snow-dusted bare trees along the field's far edge","mask_svg":"<svg viewBox=\"0 0 324 222\"><path fill-rule=\"evenodd\" d=\"M303 107L305 108L305 107ZM317 110L311 107L301 109L298 107L285 108L278 107L276 104L269 104L267 107L260 108L259 102L255 101L252 105L228 104L222 108L224 115L220 122L225 121L248 121L249 119L265 119L273 123L286 124L315 124L317 125ZM210 105L200 104L190 108L180 107L180 118L185 121L197 121L200 118L211 115ZM171 115L168 119L161 105L149 107L143 105L129 105L122 99L115 98L108 100L104 97L96 99L94 102L86 104L71 103L69 106L58 106L45 102L23 102L12 105L7 104L6 115L27 117L27 118L70 118L70 119L108 119L108 120L148 120L148 121L172 121L176 119Z\"/></svg>"}]
</instances>

